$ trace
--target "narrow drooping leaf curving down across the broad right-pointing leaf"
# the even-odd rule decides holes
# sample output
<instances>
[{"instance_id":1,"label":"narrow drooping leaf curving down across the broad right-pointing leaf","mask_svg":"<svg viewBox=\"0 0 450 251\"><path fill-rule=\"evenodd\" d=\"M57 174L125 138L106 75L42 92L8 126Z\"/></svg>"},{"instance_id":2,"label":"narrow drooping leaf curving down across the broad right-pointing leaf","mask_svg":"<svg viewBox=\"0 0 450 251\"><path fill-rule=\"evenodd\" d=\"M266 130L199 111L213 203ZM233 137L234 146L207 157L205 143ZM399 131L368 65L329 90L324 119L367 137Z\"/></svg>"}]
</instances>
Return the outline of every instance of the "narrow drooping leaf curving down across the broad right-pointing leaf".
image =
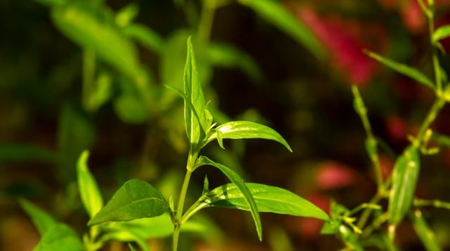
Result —
<instances>
[{"instance_id":1,"label":"narrow drooping leaf curving down across the broad right-pointing leaf","mask_svg":"<svg viewBox=\"0 0 450 251\"><path fill-rule=\"evenodd\" d=\"M259 212L257 205L255 203L255 198L253 198L252 192L250 191L250 189L248 189L248 186L245 184L242 178L236 172L234 172L230 168L227 168L225 165L216 163L205 156L201 156L200 158L198 158L195 164L196 164L195 168L198 168L200 165L212 165L215 168L218 168L219 170L221 170L222 173L224 173L226 177L230 179L231 182L233 182L233 184L235 184L238 187L238 189L245 198L245 202L248 203L248 206L250 208L250 212L252 214L253 221L255 222L259 240L262 240L261 219L259 219Z\"/></svg>"}]
</instances>

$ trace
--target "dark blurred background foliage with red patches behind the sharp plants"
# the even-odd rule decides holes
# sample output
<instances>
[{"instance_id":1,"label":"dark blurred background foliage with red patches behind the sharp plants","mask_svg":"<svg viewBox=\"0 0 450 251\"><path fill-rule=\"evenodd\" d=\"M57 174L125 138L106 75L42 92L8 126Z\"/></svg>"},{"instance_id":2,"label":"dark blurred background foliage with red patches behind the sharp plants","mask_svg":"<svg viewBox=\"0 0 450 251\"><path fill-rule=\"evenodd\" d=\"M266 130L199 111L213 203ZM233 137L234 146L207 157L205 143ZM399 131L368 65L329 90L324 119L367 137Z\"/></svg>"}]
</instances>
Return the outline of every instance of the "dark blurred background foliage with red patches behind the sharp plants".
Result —
<instances>
[{"instance_id":1,"label":"dark blurred background foliage with red patches behind the sharp plants","mask_svg":"<svg viewBox=\"0 0 450 251\"><path fill-rule=\"evenodd\" d=\"M437 11L437 26L448 24L450 2L437 1ZM226 142L228 151L210 146L208 154L248 181L290 189L327 211L332 199L352 208L376 189L350 84L361 88L383 140L385 175L433 97L363 53L373 50L431 76L428 24L416 0L3 0L0 19L1 250L30 250L39 238L18 207L22 196L85 228L75 184L84 149L107 198L131 178L167 198L178 193L186 159L182 100L164 85L181 87L189 35L214 117L266 123L294 151L255 140ZM449 59L441 60L449 69ZM444 109L437 133L450 133L448 118ZM418 196L449 201L449 149L425 156L423 167ZM189 193L200 194L205 174L212 187L225 182L204 172L193 177L198 189ZM208 210L205 222L215 230L184 240L184 248L341 245L319 235L319 221L280 215L262 215L259 243L247 216ZM427 210L425 218L450 247L449 212ZM422 248L412 226L399 231L399 246ZM165 240L150 243L164 249ZM112 243L108 250L121 248Z\"/></svg>"}]
</instances>

